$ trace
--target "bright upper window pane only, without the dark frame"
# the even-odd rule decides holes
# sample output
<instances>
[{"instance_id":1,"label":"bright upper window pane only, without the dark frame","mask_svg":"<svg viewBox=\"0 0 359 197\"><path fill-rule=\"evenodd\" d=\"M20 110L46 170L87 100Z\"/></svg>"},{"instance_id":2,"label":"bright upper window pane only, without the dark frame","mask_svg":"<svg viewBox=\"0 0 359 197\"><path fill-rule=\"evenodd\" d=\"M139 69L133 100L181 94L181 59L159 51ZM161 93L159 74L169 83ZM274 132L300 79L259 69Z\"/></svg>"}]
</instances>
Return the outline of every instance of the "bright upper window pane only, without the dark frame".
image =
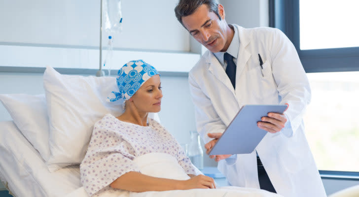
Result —
<instances>
[{"instance_id":1,"label":"bright upper window pane only, without the dark frame","mask_svg":"<svg viewBox=\"0 0 359 197\"><path fill-rule=\"evenodd\" d=\"M359 46L358 0L300 0L300 50Z\"/></svg>"}]
</instances>

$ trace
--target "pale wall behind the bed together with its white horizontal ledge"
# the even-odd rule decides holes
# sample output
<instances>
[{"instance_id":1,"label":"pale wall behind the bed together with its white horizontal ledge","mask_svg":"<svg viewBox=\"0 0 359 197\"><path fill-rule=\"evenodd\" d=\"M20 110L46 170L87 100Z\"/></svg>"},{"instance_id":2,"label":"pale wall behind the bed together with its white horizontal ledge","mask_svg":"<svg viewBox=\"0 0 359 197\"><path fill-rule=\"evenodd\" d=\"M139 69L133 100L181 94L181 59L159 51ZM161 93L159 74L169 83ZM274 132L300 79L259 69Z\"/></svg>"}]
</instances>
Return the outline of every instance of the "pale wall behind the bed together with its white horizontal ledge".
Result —
<instances>
[{"instance_id":1,"label":"pale wall behind the bed together with its white horizontal ledge","mask_svg":"<svg viewBox=\"0 0 359 197\"><path fill-rule=\"evenodd\" d=\"M0 71L1 66L98 69L100 2L1 0ZM142 58L160 71L188 72L200 53L190 51L190 35L174 14L177 2L122 0L123 30L111 33L108 66L116 69ZM108 35L103 31L103 49ZM102 62L106 57L103 50Z\"/></svg>"}]
</instances>

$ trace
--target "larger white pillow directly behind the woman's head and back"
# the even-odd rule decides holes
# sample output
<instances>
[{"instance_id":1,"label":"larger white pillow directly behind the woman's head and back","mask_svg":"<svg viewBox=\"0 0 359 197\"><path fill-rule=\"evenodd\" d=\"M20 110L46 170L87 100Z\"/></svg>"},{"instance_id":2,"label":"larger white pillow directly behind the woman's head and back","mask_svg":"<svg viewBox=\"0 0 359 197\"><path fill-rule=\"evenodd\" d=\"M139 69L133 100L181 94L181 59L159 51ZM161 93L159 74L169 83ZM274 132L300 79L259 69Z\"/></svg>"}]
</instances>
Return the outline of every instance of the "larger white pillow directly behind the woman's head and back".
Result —
<instances>
[{"instance_id":1,"label":"larger white pillow directly behind the woman's head and back","mask_svg":"<svg viewBox=\"0 0 359 197\"><path fill-rule=\"evenodd\" d=\"M107 102L118 91L115 77L62 75L46 67L43 84L50 119L50 171L79 164L86 154L93 125L106 114L123 113L122 99ZM158 120L157 114L148 117Z\"/></svg>"}]
</instances>

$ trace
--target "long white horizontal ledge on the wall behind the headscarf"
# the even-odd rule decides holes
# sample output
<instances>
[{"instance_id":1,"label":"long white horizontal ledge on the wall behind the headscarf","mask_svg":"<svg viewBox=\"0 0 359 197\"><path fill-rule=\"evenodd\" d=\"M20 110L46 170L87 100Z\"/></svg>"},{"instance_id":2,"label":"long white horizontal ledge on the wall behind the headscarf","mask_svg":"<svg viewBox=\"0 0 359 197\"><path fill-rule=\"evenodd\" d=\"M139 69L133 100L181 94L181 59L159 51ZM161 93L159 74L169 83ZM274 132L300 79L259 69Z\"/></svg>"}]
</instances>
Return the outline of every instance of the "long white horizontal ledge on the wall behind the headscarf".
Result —
<instances>
[{"instance_id":1,"label":"long white horizontal ledge on the wall behind the headscarf","mask_svg":"<svg viewBox=\"0 0 359 197\"><path fill-rule=\"evenodd\" d=\"M103 63L106 53L103 50ZM99 49L0 45L0 54L0 71L1 66L99 69ZM131 60L143 59L159 71L188 72L199 57L194 53L113 50L111 61L107 61L112 64L102 68L118 69Z\"/></svg>"}]
</instances>

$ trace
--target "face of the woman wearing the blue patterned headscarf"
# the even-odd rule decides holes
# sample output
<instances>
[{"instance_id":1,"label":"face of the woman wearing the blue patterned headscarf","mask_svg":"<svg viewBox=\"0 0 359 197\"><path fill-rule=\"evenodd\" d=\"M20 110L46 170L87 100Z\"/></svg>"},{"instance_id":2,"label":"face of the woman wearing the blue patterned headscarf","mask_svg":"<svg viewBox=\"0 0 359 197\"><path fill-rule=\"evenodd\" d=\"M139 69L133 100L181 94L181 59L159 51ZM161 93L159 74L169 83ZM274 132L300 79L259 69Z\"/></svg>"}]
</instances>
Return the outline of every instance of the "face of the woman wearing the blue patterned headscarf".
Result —
<instances>
[{"instance_id":1,"label":"face of the woman wearing the blue patterned headscarf","mask_svg":"<svg viewBox=\"0 0 359 197\"><path fill-rule=\"evenodd\" d=\"M139 112L159 112L162 97L161 79L156 74L144 82L132 100Z\"/></svg>"}]
</instances>

